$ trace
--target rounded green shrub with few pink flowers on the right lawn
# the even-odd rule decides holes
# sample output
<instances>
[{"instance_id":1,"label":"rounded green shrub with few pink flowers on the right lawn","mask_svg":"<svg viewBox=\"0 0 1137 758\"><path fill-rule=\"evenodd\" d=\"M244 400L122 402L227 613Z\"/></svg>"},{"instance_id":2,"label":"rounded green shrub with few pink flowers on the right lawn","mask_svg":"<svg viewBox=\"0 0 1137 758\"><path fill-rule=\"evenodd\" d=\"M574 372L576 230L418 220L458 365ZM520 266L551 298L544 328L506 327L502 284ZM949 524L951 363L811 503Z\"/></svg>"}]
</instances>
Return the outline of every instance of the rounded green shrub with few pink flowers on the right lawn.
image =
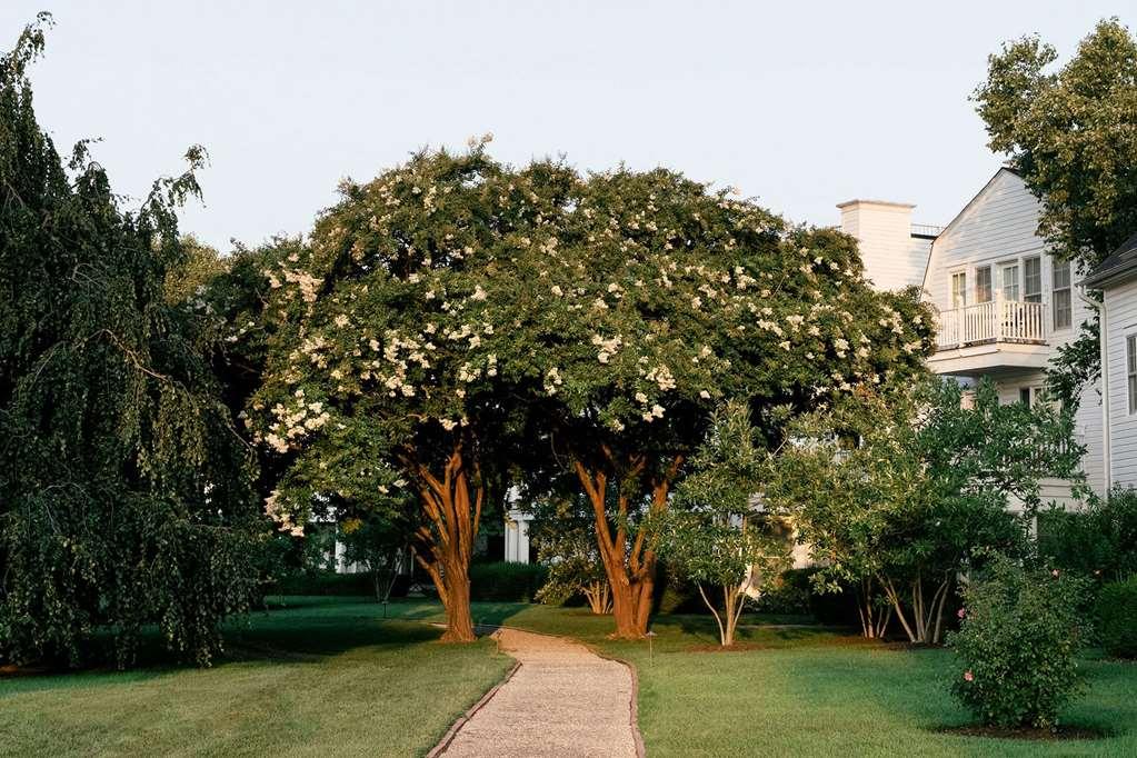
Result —
<instances>
[{"instance_id":1,"label":"rounded green shrub with few pink flowers on the right lawn","mask_svg":"<svg viewBox=\"0 0 1137 758\"><path fill-rule=\"evenodd\" d=\"M1053 728L1081 686L1074 656L1086 581L1006 558L985 574L964 589L960 630L948 635L961 663L952 691L986 725Z\"/></svg>"}]
</instances>

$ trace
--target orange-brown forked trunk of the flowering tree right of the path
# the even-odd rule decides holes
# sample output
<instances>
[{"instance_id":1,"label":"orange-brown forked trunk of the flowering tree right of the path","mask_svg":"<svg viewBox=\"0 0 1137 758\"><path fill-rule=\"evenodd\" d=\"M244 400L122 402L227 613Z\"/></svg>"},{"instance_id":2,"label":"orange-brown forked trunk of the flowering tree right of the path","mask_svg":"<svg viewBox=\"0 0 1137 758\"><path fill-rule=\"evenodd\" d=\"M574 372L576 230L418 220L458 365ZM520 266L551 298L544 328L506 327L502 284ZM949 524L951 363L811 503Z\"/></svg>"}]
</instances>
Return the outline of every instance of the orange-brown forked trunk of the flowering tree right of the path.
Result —
<instances>
[{"instance_id":1,"label":"orange-brown forked trunk of the flowering tree right of the path","mask_svg":"<svg viewBox=\"0 0 1137 758\"><path fill-rule=\"evenodd\" d=\"M609 463L614 463L608 451L605 451L605 455L608 456ZM658 513L667 507L671 480L681 464L682 458L677 457L667 474L652 483L652 513ZM580 460L574 460L573 467L592 503L597 547L612 590L612 616L616 624L613 636L638 640L647 634L652 616L652 602L655 597L655 550L648 543L644 530L637 533L634 541L629 545L625 519L630 503L624 488L616 490L615 508L609 518L607 473L590 470ZM622 481L617 483L623 485L636 482L642 474L644 467L642 458L629 461L623 470Z\"/></svg>"}]
</instances>

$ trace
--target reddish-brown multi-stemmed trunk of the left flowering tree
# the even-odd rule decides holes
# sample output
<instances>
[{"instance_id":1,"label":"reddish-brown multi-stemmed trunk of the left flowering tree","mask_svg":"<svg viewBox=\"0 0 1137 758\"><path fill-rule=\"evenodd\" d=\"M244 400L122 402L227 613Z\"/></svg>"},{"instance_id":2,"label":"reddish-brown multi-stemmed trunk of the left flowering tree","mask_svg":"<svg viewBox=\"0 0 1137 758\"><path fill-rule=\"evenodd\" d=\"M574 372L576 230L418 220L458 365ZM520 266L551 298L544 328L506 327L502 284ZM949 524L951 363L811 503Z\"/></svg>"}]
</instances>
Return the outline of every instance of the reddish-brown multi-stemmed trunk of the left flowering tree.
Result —
<instances>
[{"instance_id":1,"label":"reddish-brown multi-stemmed trunk of the left flowering tree","mask_svg":"<svg viewBox=\"0 0 1137 758\"><path fill-rule=\"evenodd\" d=\"M418 538L429 555L415 552L420 565L430 574L446 609L443 642L473 642L474 622L470 613L470 558L481 522L485 488L473 472L474 497L471 499L471 472L457 444L438 477L425 466L412 467L421 482L420 500L429 526L418 530Z\"/></svg>"}]
</instances>

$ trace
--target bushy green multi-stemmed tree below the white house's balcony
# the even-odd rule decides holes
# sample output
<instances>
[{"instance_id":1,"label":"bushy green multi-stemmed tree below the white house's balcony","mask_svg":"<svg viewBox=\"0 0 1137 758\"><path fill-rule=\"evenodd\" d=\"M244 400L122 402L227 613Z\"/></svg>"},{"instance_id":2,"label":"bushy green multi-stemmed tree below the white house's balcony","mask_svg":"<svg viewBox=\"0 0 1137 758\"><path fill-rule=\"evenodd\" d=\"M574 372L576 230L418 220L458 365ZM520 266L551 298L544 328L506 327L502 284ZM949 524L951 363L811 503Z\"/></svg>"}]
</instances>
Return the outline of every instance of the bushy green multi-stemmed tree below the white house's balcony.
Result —
<instances>
[{"instance_id":1,"label":"bushy green multi-stemmed tree below the white house's balcony","mask_svg":"<svg viewBox=\"0 0 1137 758\"><path fill-rule=\"evenodd\" d=\"M1069 411L1001 405L989 383L964 402L953 381L858 393L792 425L765 497L795 518L819 589L852 586L865 636L895 618L938 643L955 577L1021 553L1039 482L1076 477Z\"/></svg>"}]
</instances>

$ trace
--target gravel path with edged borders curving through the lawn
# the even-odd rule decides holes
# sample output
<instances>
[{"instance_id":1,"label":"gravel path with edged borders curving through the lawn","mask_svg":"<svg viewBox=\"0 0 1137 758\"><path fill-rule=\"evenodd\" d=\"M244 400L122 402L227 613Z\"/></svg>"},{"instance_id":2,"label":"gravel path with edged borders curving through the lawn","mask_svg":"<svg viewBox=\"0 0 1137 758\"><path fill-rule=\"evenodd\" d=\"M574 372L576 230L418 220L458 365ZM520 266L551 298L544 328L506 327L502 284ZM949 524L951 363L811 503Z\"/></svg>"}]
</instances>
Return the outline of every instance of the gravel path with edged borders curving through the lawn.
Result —
<instances>
[{"instance_id":1,"label":"gravel path with edged borders curving through the lawn","mask_svg":"<svg viewBox=\"0 0 1137 758\"><path fill-rule=\"evenodd\" d=\"M464 723L446 756L634 758L632 675L561 638L501 628L501 649L521 666Z\"/></svg>"}]
</instances>

